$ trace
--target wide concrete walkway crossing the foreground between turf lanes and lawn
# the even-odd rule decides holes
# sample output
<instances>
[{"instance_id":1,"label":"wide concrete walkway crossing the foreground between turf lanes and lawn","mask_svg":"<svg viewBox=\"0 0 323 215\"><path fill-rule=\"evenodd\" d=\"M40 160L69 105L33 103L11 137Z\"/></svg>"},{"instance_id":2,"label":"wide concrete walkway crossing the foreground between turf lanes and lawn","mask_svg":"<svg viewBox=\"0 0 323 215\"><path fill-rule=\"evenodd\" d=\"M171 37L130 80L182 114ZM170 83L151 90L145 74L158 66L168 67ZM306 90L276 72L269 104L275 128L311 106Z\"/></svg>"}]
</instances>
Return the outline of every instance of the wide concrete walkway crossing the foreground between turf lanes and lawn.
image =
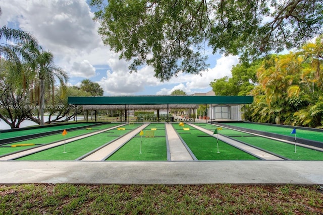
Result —
<instances>
[{"instance_id":1,"label":"wide concrete walkway crossing the foreground between turf lanes and lawn","mask_svg":"<svg viewBox=\"0 0 323 215\"><path fill-rule=\"evenodd\" d=\"M319 161L0 161L0 184L321 184Z\"/></svg>"}]
</instances>

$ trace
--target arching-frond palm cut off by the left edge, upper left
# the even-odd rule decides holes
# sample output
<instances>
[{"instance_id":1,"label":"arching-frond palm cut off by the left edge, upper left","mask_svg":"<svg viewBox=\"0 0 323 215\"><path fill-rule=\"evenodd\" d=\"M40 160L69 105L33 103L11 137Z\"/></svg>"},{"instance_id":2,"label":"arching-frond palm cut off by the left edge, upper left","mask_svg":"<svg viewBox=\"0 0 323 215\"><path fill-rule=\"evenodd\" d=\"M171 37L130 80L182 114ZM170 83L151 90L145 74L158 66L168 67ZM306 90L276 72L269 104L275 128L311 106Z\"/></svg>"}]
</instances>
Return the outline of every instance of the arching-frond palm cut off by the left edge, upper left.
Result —
<instances>
[{"instance_id":1,"label":"arching-frond palm cut off by the left edge, upper left","mask_svg":"<svg viewBox=\"0 0 323 215\"><path fill-rule=\"evenodd\" d=\"M0 16L2 10L0 8ZM0 28L0 59L11 61L15 69L11 69L11 75L15 78L22 78L23 71L22 60L30 60L30 53L22 48L22 44L28 44L30 47L38 47L36 38L28 32L21 29L12 29L7 26ZM17 76L18 75L18 76Z\"/></svg>"}]
</instances>

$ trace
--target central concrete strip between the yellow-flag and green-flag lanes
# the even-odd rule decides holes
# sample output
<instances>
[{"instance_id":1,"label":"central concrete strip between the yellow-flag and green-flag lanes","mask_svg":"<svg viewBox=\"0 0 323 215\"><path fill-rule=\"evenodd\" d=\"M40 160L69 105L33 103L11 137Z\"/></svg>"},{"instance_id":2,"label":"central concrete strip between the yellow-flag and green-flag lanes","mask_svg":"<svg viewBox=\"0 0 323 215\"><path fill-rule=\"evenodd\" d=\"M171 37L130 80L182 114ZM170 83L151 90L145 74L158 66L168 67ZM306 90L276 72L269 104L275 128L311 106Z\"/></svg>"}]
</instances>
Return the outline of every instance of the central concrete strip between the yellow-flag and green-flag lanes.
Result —
<instances>
[{"instance_id":1,"label":"central concrete strip between the yellow-flag and green-flag lanes","mask_svg":"<svg viewBox=\"0 0 323 215\"><path fill-rule=\"evenodd\" d=\"M191 154L177 135L173 125L165 124L165 128L169 142L171 161L193 161Z\"/></svg>"}]
</instances>

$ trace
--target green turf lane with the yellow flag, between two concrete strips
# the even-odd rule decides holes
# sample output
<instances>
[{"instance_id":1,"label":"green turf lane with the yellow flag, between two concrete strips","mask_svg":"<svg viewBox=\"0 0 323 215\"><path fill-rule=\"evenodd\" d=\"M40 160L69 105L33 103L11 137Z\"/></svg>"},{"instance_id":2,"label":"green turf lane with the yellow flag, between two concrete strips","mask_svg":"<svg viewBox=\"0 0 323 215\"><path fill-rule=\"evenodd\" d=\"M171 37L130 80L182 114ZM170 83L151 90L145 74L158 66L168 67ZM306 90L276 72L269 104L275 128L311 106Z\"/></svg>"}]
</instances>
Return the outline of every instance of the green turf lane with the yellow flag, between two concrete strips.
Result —
<instances>
[{"instance_id":1,"label":"green turf lane with the yellow flag, between two concrete strips","mask_svg":"<svg viewBox=\"0 0 323 215\"><path fill-rule=\"evenodd\" d=\"M146 137L146 131L154 137ZM167 161L165 124L149 124L106 161Z\"/></svg>"}]
</instances>

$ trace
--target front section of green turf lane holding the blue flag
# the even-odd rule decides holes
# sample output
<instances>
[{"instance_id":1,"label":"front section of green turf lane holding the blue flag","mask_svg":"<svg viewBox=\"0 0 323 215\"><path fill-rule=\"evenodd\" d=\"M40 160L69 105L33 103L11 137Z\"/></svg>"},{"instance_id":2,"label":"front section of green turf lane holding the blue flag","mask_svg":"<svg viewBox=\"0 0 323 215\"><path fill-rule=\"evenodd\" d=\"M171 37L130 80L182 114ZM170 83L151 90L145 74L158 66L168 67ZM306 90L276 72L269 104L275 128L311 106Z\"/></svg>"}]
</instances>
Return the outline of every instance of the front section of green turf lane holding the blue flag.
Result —
<instances>
[{"instance_id":1,"label":"front section of green turf lane holding the blue flag","mask_svg":"<svg viewBox=\"0 0 323 215\"><path fill-rule=\"evenodd\" d=\"M307 149L304 147L296 146L296 153L293 144L286 144L285 142L268 139L260 136L243 136L243 137L231 137L243 142L247 142L249 145L273 152L281 155L285 158L294 161L323 161L323 152Z\"/></svg>"}]
</instances>

